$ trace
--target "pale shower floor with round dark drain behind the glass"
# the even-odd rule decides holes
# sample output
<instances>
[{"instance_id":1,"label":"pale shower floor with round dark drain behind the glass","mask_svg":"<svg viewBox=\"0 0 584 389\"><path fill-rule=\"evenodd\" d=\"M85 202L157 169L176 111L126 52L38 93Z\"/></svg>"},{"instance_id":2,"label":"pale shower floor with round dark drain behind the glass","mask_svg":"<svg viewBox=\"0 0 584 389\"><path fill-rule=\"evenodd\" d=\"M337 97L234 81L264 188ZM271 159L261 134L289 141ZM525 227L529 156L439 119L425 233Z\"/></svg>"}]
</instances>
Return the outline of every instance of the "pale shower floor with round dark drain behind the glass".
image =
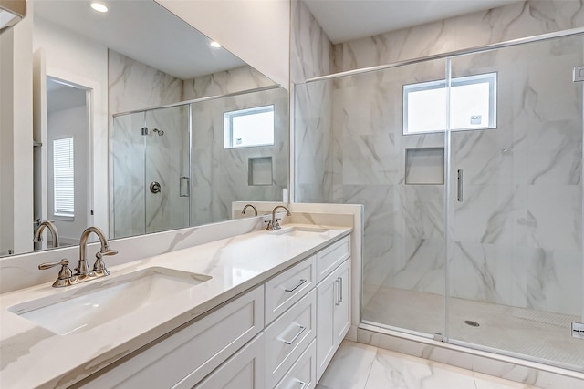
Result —
<instances>
[{"instance_id":1,"label":"pale shower floor with round dark drain behind the glass","mask_svg":"<svg viewBox=\"0 0 584 389\"><path fill-rule=\"evenodd\" d=\"M523 354L544 363L561 363L579 371L584 369L584 340L570 334L571 322L579 322L578 316L458 298L450 299L450 312L451 340ZM444 333L444 298L433 293L381 287L363 306L362 319L419 333Z\"/></svg>"}]
</instances>

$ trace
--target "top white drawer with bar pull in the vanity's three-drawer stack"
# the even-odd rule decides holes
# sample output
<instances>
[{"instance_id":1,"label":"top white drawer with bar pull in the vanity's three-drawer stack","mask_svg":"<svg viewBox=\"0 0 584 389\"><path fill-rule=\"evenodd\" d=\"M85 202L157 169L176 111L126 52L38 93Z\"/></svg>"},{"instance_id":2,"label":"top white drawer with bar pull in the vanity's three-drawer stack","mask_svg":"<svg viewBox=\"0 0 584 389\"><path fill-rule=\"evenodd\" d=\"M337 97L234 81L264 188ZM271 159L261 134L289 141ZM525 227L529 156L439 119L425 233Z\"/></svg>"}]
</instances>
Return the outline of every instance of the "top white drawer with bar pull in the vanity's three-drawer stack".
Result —
<instances>
[{"instance_id":1,"label":"top white drawer with bar pull in the vanity's three-drawer stack","mask_svg":"<svg viewBox=\"0 0 584 389\"><path fill-rule=\"evenodd\" d=\"M313 255L266 282L266 325L316 285L316 260L316 255Z\"/></svg>"}]
</instances>

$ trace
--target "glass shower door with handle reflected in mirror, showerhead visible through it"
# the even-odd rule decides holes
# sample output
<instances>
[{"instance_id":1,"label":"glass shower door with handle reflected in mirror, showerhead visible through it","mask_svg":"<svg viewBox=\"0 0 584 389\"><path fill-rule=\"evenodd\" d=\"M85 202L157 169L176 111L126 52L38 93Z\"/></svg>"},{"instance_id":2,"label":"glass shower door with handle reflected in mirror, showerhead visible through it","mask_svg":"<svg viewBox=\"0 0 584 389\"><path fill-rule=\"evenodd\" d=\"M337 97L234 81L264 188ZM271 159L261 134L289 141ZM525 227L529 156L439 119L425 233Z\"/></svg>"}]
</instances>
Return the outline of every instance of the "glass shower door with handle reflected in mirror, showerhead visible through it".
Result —
<instances>
[{"instance_id":1,"label":"glass shower door with handle reflected in mirror, showerhead visible through it","mask_svg":"<svg viewBox=\"0 0 584 389\"><path fill-rule=\"evenodd\" d=\"M189 106L146 111L145 230L189 226Z\"/></svg>"}]
</instances>

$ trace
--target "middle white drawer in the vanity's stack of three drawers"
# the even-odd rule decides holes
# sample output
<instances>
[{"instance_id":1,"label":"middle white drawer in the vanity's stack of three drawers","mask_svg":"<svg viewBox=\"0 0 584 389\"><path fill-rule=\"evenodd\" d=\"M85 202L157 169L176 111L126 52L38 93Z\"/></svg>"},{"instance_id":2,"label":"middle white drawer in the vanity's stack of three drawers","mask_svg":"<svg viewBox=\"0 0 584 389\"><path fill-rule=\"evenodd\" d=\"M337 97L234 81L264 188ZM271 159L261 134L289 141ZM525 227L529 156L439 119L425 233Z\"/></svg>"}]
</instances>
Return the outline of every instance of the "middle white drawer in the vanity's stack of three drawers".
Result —
<instances>
[{"instance_id":1,"label":"middle white drawer in the vanity's stack of three drawers","mask_svg":"<svg viewBox=\"0 0 584 389\"><path fill-rule=\"evenodd\" d=\"M266 328L266 387L273 388L316 336L317 291L312 289Z\"/></svg>"}]
</instances>

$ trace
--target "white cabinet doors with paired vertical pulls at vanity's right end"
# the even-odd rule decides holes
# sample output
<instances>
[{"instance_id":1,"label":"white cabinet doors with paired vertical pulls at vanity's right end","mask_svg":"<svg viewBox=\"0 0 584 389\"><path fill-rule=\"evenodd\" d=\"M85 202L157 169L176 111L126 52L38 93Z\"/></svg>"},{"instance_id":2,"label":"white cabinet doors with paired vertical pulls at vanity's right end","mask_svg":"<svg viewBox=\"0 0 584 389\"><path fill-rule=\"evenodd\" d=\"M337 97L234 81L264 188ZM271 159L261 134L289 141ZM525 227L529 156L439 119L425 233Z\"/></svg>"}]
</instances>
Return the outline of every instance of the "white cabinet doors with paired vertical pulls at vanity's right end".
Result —
<instances>
[{"instance_id":1,"label":"white cabinet doors with paired vertical pulls at vanity's right end","mask_svg":"<svg viewBox=\"0 0 584 389\"><path fill-rule=\"evenodd\" d=\"M317 381L349 331L349 261L317 285Z\"/></svg>"}]
</instances>

